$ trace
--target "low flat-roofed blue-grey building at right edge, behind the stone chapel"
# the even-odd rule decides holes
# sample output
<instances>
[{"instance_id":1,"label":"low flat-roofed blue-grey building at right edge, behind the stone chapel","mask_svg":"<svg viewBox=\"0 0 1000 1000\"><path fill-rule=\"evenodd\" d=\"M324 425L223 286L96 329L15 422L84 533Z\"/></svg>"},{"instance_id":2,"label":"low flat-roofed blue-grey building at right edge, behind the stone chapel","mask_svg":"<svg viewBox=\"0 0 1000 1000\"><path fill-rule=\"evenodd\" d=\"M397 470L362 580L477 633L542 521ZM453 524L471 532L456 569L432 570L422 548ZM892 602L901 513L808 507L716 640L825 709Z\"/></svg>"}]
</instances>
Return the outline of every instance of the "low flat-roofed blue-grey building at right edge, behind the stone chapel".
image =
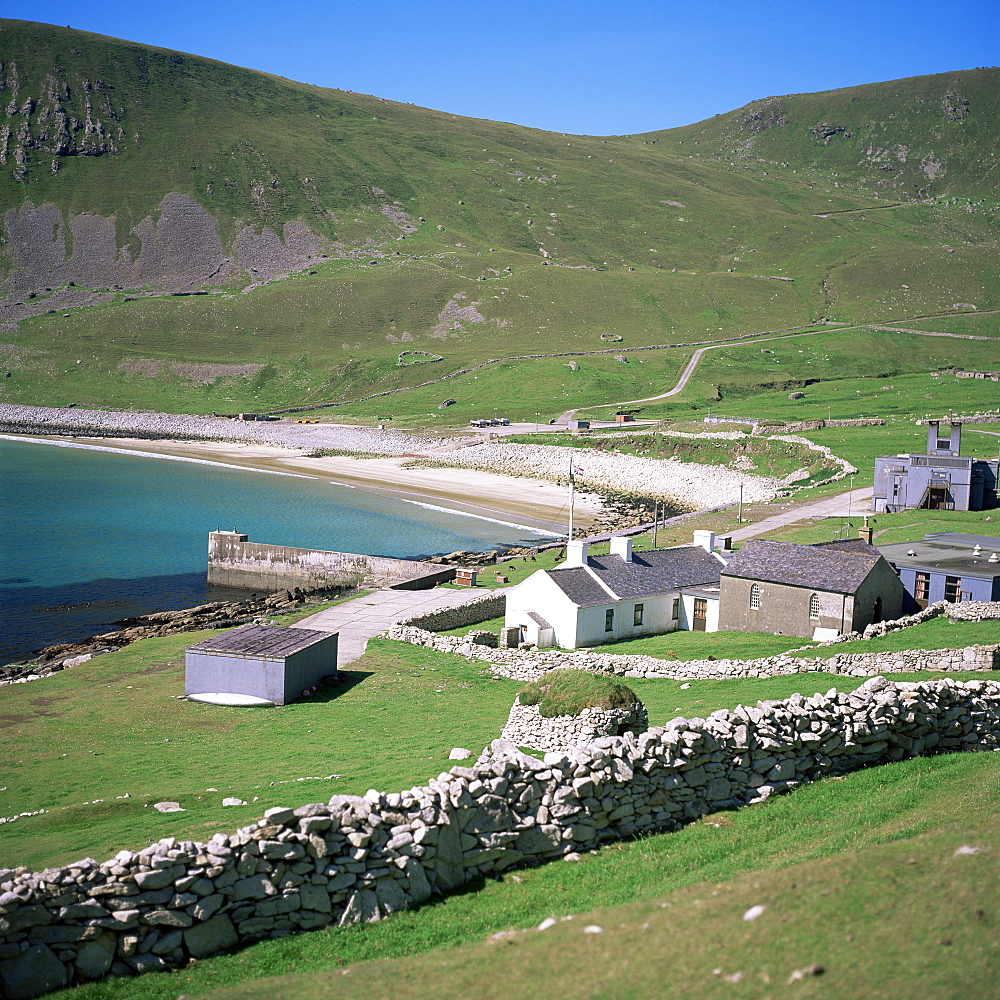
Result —
<instances>
[{"instance_id":1,"label":"low flat-roofed blue-grey building at right edge, behind the stone chapel","mask_svg":"<svg viewBox=\"0 0 1000 1000\"><path fill-rule=\"evenodd\" d=\"M1000 601L1000 538L941 531L878 549L918 608L935 601Z\"/></svg>"}]
</instances>

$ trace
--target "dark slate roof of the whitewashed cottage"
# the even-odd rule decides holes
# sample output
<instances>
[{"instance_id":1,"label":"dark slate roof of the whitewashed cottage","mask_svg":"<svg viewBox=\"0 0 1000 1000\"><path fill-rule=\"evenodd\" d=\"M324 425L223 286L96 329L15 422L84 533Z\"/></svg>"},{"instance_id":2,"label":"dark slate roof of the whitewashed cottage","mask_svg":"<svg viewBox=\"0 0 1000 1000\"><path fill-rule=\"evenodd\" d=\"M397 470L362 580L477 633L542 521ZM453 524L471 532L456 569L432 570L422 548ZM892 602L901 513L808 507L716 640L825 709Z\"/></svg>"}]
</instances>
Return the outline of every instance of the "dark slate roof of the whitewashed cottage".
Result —
<instances>
[{"instance_id":1,"label":"dark slate roof of the whitewashed cottage","mask_svg":"<svg viewBox=\"0 0 1000 1000\"><path fill-rule=\"evenodd\" d=\"M549 570L549 577L578 607L614 604L600 583L609 587L618 600L653 597L681 587L717 584L722 564L700 545L679 545L670 549L636 552L632 562L621 556L591 556L587 569Z\"/></svg>"}]
</instances>

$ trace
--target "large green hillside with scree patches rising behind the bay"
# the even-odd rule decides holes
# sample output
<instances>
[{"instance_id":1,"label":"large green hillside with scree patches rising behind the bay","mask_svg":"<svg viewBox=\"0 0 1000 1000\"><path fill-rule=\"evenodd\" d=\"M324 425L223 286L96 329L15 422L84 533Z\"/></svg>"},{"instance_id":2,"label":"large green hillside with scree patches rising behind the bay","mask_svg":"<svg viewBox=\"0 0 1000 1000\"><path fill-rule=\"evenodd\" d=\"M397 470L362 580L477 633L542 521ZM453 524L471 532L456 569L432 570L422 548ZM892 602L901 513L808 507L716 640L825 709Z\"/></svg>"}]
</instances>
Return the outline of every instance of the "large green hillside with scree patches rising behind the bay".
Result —
<instances>
[{"instance_id":1,"label":"large green hillside with scree patches rising behind the bay","mask_svg":"<svg viewBox=\"0 0 1000 1000\"><path fill-rule=\"evenodd\" d=\"M488 398L531 419L663 392L692 348L412 387L610 350L609 333L635 348L973 309L997 330L996 70L782 99L787 124L740 159L726 143L746 145L755 106L560 135L21 21L0 21L0 61L4 401L233 412L402 388L333 412L464 422ZM955 120L948 95L969 102ZM823 145L814 118L850 128ZM933 182L887 188L885 164L845 145L864 129L894 163L933 152ZM895 336L890 361L910 357ZM964 363L991 346L969 341ZM442 360L401 365L407 350ZM749 395L812 377L805 360ZM731 398L730 382L676 402Z\"/></svg>"}]
</instances>

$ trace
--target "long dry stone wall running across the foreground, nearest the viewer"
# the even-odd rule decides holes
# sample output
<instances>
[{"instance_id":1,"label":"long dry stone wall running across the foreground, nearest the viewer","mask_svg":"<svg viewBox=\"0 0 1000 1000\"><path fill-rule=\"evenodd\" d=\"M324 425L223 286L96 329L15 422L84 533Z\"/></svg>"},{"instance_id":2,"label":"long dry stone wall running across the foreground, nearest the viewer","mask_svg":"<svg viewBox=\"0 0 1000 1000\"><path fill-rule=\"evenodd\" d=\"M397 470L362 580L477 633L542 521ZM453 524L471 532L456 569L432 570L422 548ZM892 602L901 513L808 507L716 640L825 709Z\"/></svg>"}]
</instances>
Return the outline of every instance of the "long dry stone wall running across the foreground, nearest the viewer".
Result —
<instances>
[{"instance_id":1,"label":"long dry stone wall running across the foreground, nearest the viewer","mask_svg":"<svg viewBox=\"0 0 1000 1000\"><path fill-rule=\"evenodd\" d=\"M543 760L496 740L404 792L268 809L207 843L0 870L0 993L181 966L255 939L372 921L480 876L928 752L1000 749L1000 685L873 678L604 737Z\"/></svg>"}]
</instances>

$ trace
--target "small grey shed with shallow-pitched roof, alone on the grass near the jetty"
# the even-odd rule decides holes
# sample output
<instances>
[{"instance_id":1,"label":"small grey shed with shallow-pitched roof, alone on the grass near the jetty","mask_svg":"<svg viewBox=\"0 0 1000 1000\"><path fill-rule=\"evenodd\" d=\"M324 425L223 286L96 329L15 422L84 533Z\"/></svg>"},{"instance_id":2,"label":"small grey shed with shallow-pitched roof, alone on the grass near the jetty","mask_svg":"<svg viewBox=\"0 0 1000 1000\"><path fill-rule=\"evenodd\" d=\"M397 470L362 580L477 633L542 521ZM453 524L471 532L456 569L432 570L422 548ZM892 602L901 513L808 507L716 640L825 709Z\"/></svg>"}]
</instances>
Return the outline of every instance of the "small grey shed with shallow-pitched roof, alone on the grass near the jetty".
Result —
<instances>
[{"instance_id":1,"label":"small grey shed with shallow-pitched roof, alone on the grass near the jetty","mask_svg":"<svg viewBox=\"0 0 1000 1000\"><path fill-rule=\"evenodd\" d=\"M219 705L286 705L337 673L336 632L241 625L185 651L184 693Z\"/></svg>"}]
</instances>

